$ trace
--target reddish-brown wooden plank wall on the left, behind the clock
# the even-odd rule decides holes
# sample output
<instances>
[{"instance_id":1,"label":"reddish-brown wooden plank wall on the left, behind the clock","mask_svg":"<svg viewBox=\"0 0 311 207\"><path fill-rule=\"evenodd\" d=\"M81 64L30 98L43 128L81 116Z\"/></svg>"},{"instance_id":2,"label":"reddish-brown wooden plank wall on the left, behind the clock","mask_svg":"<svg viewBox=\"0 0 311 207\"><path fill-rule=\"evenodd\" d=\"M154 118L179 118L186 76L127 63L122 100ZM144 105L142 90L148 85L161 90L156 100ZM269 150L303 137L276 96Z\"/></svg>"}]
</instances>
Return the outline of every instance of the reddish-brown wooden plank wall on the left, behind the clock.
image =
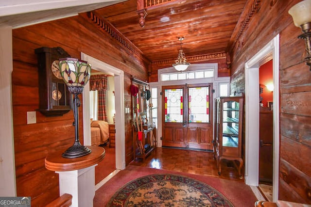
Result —
<instances>
[{"instance_id":1,"label":"reddish-brown wooden plank wall on the left, behind the clock","mask_svg":"<svg viewBox=\"0 0 311 207\"><path fill-rule=\"evenodd\" d=\"M72 111L60 117L45 117L36 112L36 124L27 125L27 111L35 111L39 105L34 50L40 47L62 47L75 58L80 58L80 52L84 52L123 70L124 107L128 108L132 108L131 76L147 80L148 68L148 63L140 62L90 22L86 14L13 30L12 99L17 196L31 196L33 206L44 206L59 196L58 174L45 169L44 159L55 149L67 149L74 142ZM83 141L82 107L79 111L79 134ZM133 160L131 120L132 114L125 114L126 164Z\"/></svg>"}]
</instances>

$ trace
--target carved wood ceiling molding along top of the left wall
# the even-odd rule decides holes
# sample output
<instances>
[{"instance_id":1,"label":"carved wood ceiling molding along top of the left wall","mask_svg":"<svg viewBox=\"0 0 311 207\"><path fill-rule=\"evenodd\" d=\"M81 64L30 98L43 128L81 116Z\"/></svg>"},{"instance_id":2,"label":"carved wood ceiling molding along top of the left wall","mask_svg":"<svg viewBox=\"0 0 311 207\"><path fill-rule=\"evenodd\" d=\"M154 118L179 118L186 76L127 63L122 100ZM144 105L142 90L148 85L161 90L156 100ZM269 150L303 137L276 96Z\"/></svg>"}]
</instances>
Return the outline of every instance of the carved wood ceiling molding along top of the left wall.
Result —
<instances>
[{"instance_id":1,"label":"carved wood ceiling molding along top of the left wall","mask_svg":"<svg viewBox=\"0 0 311 207\"><path fill-rule=\"evenodd\" d=\"M136 55L142 61L148 61L142 51L138 49L129 39L127 39L117 28L115 28L110 22L104 18L99 18L93 12L88 12L87 16L96 23L102 30L107 32L111 37L118 40L124 48L127 48L132 54Z\"/></svg>"}]
</instances>

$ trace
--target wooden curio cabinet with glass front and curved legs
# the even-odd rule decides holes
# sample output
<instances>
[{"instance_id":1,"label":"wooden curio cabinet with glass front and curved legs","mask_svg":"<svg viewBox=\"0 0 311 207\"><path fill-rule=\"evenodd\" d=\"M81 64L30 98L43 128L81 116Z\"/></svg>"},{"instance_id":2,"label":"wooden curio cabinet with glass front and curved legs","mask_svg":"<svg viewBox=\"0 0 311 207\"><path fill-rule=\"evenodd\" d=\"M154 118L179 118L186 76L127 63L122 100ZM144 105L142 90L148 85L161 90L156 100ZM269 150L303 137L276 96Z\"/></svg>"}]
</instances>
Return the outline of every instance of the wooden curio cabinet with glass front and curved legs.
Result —
<instances>
[{"instance_id":1,"label":"wooden curio cabinet with glass front and curved legs","mask_svg":"<svg viewBox=\"0 0 311 207\"><path fill-rule=\"evenodd\" d=\"M214 158L217 161L218 174L221 174L222 159L232 160L242 178L242 124L243 97L216 98L215 136L213 141Z\"/></svg>"}]
</instances>

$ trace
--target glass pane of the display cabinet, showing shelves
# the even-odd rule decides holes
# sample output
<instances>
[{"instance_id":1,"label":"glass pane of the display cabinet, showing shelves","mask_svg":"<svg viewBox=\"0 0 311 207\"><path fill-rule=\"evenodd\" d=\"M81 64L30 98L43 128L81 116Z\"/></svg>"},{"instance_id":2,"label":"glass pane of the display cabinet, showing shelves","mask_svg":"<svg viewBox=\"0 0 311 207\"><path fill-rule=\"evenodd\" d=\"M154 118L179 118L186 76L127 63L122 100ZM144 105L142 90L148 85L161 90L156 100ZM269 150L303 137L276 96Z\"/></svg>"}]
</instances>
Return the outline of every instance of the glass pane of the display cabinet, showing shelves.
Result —
<instances>
[{"instance_id":1,"label":"glass pane of the display cabinet, showing shelves","mask_svg":"<svg viewBox=\"0 0 311 207\"><path fill-rule=\"evenodd\" d=\"M223 102L223 146L239 146L239 102Z\"/></svg>"}]
</instances>

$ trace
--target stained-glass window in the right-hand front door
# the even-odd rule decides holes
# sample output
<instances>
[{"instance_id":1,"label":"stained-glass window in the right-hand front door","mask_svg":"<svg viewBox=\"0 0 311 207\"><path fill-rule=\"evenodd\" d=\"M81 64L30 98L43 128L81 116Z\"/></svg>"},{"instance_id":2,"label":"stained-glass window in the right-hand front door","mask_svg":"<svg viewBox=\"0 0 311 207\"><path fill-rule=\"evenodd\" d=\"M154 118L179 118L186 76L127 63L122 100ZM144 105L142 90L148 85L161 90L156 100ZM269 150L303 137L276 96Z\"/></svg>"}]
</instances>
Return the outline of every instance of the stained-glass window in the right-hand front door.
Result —
<instances>
[{"instance_id":1,"label":"stained-glass window in the right-hand front door","mask_svg":"<svg viewBox=\"0 0 311 207\"><path fill-rule=\"evenodd\" d=\"M209 123L209 87L189 88L189 122Z\"/></svg>"}]
</instances>

